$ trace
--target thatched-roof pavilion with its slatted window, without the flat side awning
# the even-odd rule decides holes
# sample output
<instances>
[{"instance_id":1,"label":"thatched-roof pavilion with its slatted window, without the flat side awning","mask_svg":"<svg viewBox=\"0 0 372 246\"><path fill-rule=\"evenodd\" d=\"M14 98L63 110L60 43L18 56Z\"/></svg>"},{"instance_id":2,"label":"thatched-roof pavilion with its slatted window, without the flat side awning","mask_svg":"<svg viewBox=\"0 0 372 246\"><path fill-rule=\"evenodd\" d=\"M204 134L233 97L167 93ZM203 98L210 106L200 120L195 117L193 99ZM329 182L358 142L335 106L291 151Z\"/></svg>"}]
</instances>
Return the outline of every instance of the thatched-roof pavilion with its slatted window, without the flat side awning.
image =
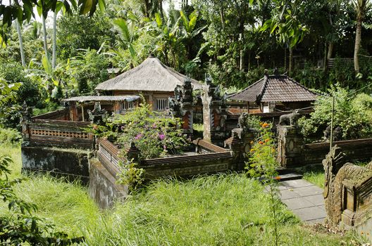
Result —
<instances>
[{"instance_id":1,"label":"thatched-roof pavilion with its slatted window, without the flat side awning","mask_svg":"<svg viewBox=\"0 0 372 246\"><path fill-rule=\"evenodd\" d=\"M154 110L163 111L168 108L168 97L174 96L175 86L181 86L185 78L186 75L167 67L158 58L149 56L137 67L99 84L96 90L107 96L142 93ZM191 79L191 84L194 90L202 89L202 84L195 79Z\"/></svg>"}]
</instances>

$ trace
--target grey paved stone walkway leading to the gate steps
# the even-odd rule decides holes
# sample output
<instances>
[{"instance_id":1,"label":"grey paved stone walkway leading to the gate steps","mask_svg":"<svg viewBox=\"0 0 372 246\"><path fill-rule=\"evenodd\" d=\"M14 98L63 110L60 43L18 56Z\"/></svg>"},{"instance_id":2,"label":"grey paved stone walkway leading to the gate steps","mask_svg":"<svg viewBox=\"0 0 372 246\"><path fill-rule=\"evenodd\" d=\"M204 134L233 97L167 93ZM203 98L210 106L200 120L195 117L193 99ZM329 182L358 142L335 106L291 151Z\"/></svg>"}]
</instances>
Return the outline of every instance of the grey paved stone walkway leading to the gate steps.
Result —
<instances>
[{"instance_id":1,"label":"grey paved stone walkway leading to the gate steps","mask_svg":"<svg viewBox=\"0 0 372 246\"><path fill-rule=\"evenodd\" d=\"M325 207L323 190L303 179L279 182L282 202L308 224L323 223Z\"/></svg>"}]
</instances>

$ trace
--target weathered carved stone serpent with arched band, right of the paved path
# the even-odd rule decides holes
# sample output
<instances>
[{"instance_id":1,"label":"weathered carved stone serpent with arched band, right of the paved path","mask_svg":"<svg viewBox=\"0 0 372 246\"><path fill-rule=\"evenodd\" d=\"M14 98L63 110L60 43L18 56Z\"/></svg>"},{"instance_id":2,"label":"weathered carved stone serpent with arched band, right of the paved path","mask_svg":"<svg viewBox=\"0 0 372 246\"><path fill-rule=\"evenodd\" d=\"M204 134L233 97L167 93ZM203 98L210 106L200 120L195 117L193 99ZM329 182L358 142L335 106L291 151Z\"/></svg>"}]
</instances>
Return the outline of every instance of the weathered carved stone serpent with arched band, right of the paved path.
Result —
<instances>
[{"instance_id":1,"label":"weathered carved stone serpent with arched band, right of the paved path","mask_svg":"<svg viewBox=\"0 0 372 246\"><path fill-rule=\"evenodd\" d=\"M358 181L366 176L372 176L372 162L366 167L345 163L345 154L337 145L333 146L330 153L323 160L325 171L324 202L327 212L327 223L330 226L338 226L341 221L343 205L344 184L343 181Z\"/></svg>"}]
</instances>

